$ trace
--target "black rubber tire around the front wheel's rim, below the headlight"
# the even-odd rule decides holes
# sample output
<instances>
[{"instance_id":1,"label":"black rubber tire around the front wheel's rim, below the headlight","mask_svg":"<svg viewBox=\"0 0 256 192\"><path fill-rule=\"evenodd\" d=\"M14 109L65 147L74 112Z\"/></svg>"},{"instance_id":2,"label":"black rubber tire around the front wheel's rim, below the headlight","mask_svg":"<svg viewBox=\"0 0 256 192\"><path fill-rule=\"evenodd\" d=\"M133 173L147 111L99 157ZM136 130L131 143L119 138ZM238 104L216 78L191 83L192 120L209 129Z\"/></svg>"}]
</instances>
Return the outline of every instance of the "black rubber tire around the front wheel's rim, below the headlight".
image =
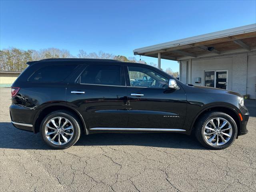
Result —
<instances>
[{"instance_id":1,"label":"black rubber tire around the front wheel's rim, below the headlight","mask_svg":"<svg viewBox=\"0 0 256 192\"><path fill-rule=\"evenodd\" d=\"M212 118L224 118L232 126L232 135L231 135L230 139L228 140L228 142L226 142L223 145L220 145L220 146L212 145L212 144L208 143L206 141L206 138L204 137L204 126L206 126L206 123L209 120L211 120ZM218 112L218 111L207 112L197 120L196 125L195 125L195 136L196 136L197 140L204 147L212 149L212 150L221 150L221 149L229 147L236 139L237 134L238 134L238 130L237 130L236 122L234 121L234 119L231 116L229 116L228 114L223 113L223 112Z\"/></svg>"}]
</instances>

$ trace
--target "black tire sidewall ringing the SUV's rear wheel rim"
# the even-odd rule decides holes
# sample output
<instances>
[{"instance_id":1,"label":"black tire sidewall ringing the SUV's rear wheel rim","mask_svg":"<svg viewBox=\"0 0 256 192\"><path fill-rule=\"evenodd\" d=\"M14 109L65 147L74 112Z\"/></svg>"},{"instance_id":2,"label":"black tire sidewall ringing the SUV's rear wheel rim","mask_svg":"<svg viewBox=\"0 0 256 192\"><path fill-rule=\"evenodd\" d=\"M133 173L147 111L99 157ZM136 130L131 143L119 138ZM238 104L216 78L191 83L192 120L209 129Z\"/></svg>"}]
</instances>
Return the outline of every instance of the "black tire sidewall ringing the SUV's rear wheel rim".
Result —
<instances>
[{"instance_id":1,"label":"black tire sidewall ringing the SUV's rear wheel rim","mask_svg":"<svg viewBox=\"0 0 256 192\"><path fill-rule=\"evenodd\" d=\"M52 142L50 142L50 141L47 139L47 137L46 137L46 135L45 135L45 131L44 131L47 122L48 122L50 119L52 119L52 118L54 118L54 117L57 117L57 116L58 116L58 117L63 117L63 118L68 119L68 120L72 123L72 126L73 126L73 128L74 128L74 130L73 130L74 134L73 134L71 140L70 140L68 143L63 144L63 145L56 145L56 144L53 144ZM42 123L41 123L41 125L40 125L40 133L41 133L41 136L42 136L44 142L46 142L46 144L48 144L48 146L50 146L50 147L52 147L52 148L54 148L54 149L65 149L65 148L68 148L68 147L74 145L74 143L77 141L77 138L80 137L80 132L78 131L78 126L77 126L76 120L75 120L74 117L72 117L70 114L66 114L66 113L64 113L64 112L52 112L51 114L49 114L48 116L46 116L46 117L44 118L44 120L42 120Z\"/></svg>"}]
</instances>

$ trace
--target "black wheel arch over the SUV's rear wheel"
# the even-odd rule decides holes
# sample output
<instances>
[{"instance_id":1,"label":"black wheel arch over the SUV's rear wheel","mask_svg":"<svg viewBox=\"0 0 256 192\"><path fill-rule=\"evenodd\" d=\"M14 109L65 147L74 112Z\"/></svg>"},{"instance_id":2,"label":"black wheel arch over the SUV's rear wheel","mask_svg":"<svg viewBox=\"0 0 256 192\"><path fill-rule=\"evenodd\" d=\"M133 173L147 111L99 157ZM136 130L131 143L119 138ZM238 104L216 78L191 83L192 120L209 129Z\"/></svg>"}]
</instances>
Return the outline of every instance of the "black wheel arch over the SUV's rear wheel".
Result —
<instances>
[{"instance_id":1,"label":"black wheel arch over the SUV's rear wheel","mask_svg":"<svg viewBox=\"0 0 256 192\"><path fill-rule=\"evenodd\" d=\"M56 111L56 110L68 110L70 112L72 112L73 114L75 114L80 122L83 125L83 132L85 134L89 134L88 129L86 128L86 124L84 121L84 118L82 117L82 115L80 114L80 112L78 112L76 109L65 105L65 104L50 104L47 106L44 106L43 108L41 108L35 115L34 117L34 121L33 121L33 127L34 127L34 133L38 133L40 132L40 124L42 122L42 120L44 119L44 117L49 114L50 112Z\"/></svg>"}]
</instances>

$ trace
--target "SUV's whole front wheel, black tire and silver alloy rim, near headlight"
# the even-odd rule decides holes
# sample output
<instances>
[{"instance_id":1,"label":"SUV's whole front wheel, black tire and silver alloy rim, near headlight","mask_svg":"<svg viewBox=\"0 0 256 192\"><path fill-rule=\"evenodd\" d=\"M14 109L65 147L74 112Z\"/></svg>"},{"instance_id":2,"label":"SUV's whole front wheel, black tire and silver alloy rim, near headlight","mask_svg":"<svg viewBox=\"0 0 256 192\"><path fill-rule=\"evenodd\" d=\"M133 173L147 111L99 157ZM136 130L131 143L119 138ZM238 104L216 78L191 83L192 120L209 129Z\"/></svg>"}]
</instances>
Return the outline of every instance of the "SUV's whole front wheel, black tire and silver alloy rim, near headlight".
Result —
<instances>
[{"instance_id":1,"label":"SUV's whole front wheel, black tire and silver alloy rim, near headlight","mask_svg":"<svg viewBox=\"0 0 256 192\"><path fill-rule=\"evenodd\" d=\"M198 119L195 129L198 141L215 150L227 148L237 136L236 122L223 112L207 112Z\"/></svg>"}]
</instances>

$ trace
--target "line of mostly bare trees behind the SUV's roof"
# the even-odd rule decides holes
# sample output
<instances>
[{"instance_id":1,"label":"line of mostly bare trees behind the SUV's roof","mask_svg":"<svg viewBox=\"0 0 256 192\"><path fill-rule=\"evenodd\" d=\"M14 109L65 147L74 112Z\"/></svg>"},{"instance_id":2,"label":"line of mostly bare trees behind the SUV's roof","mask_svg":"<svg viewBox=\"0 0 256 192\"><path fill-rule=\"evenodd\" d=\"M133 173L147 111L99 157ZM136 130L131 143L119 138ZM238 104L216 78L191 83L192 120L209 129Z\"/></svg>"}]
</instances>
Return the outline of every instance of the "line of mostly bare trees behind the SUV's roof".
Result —
<instances>
[{"instance_id":1,"label":"line of mostly bare trees behind the SUV's roof","mask_svg":"<svg viewBox=\"0 0 256 192\"><path fill-rule=\"evenodd\" d=\"M149 64L156 67L153 62L146 63L144 60L136 60L135 57L126 57L122 55L114 55L102 51L86 53L84 50L79 50L79 53L74 56L66 49L48 48L41 50L22 50L18 48L8 48L0 50L0 70L1 71L23 71L28 61L36 61L47 58L98 58L98 59L114 59L123 62L134 62ZM165 70L168 74L177 77L178 72L173 72L171 68Z\"/></svg>"}]
</instances>

